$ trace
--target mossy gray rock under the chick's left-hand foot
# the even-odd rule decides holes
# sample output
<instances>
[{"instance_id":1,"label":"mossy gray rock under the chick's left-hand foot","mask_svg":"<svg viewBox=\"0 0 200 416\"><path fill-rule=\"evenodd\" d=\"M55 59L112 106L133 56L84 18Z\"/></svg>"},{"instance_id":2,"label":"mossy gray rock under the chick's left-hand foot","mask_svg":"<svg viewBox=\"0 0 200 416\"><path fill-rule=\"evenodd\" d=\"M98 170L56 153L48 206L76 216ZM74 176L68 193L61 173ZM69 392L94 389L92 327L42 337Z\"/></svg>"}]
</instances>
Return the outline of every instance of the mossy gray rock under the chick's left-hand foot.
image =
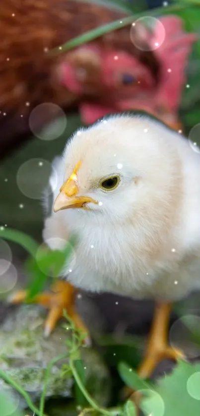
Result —
<instances>
[{"instance_id":1,"label":"mossy gray rock under the chick's left-hand foot","mask_svg":"<svg viewBox=\"0 0 200 416\"><path fill-rule=\"evenodd\" d=\"M36 305L22 305L9 313L0 327L0 368L9 374L29 393L33 402L40 399L44 387L44 373L49 361L67 353L66 340L70 337L62 325L57 325L49 338L44 337L46 313ZM109 373L98 354L82 348L86 380L91 394L101 405L109 399ZM51 397L71 398L73 379L69 372L64 376L63 364L67 359L53 365L48 378L46 399ZM1 387L9 388L2 379ZM20 407L26 403L20 399Z\"/></svg>"}]
</instances>

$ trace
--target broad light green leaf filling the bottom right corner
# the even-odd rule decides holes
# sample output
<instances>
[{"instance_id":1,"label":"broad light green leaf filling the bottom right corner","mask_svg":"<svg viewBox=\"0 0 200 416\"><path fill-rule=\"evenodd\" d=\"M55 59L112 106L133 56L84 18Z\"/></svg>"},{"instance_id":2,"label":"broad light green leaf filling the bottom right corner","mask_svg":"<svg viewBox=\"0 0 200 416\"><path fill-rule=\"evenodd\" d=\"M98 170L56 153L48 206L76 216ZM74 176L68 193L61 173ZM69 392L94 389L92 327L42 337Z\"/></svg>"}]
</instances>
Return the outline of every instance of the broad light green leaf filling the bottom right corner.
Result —
<instances>
[{"instance_id":1,"label":"broad light green leaf filling the bottom right corner","mask_svg":"<svg viewBox=\"0 0 200 416\"><path fill-rule=\"evenodd\" d=\"M180 361L172 374L154 386L154 392L145 393L149 397L144 398L140 406L144 415L199 416L200 364Z\"/></svg>"}]
</instances>

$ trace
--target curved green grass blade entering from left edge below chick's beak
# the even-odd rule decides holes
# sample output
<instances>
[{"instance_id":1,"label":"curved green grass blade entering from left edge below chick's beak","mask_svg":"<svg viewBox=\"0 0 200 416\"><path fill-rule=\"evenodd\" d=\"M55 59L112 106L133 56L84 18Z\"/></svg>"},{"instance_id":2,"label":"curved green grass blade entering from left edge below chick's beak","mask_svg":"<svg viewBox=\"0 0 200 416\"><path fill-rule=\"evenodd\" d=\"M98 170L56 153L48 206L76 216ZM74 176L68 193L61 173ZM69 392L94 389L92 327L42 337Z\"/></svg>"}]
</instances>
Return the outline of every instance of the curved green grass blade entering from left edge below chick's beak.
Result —
<instances>
[{"instance_id":1,"label":"curved green grass blade entering from left edge below chick's beak","mask_svg":"<svg viewBox=\"0 0 200 416\"><path fill-rule=\"evenodd\" d=\"M33 257L35 257L39 247L38 243L32 237L29 237L27 234L22 233L18 230L0 230L0 238L4 238L16 242L17 244L20 244Z\"/></svg>"}]
</instances>

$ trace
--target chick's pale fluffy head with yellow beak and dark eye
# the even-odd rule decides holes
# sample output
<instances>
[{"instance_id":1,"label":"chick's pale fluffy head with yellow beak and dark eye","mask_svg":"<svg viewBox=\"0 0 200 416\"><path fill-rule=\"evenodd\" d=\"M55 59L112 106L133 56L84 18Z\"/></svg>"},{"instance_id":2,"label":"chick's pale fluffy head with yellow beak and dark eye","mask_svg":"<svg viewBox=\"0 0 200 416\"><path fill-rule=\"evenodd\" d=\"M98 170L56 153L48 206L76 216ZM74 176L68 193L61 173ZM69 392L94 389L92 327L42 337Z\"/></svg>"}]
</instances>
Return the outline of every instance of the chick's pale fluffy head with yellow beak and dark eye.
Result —
<instances>
[{"instance_id":1,"label":"chick's pale fluffy head with yellow beak and dark eye","mask_svg":"<svg viewBox=\"0 0 200 416\"><path fill-rule=\"evenodd\" d=\"M76 208L85 220L117 224L139 211L146 215L158 200L168 204L177 169L170 134L176 133L138 115L112 116L75 132L54 210Z\"/></svg>"}]
</instances>

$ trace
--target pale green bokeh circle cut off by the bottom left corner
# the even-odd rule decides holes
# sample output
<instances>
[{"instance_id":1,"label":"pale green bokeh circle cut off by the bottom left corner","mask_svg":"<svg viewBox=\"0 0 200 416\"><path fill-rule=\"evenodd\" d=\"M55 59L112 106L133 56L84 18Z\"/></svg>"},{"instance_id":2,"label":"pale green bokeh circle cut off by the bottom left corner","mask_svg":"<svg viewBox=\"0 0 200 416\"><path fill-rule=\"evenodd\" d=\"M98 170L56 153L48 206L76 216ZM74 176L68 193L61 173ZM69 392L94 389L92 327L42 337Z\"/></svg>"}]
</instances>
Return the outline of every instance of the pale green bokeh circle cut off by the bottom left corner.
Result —
<instances>
[{"instance_id":1,"label":"pale green bokeh circle cut off by the bottom left corner","mask_svg":"<svg viewBox=\"0 0 200 416\"><path fill-rule=\"evenodd\" d=\"M20 398L18 393L10 387L0 387L0 416L9 416L19 407Z\"/></svg>"}]
</instances>

